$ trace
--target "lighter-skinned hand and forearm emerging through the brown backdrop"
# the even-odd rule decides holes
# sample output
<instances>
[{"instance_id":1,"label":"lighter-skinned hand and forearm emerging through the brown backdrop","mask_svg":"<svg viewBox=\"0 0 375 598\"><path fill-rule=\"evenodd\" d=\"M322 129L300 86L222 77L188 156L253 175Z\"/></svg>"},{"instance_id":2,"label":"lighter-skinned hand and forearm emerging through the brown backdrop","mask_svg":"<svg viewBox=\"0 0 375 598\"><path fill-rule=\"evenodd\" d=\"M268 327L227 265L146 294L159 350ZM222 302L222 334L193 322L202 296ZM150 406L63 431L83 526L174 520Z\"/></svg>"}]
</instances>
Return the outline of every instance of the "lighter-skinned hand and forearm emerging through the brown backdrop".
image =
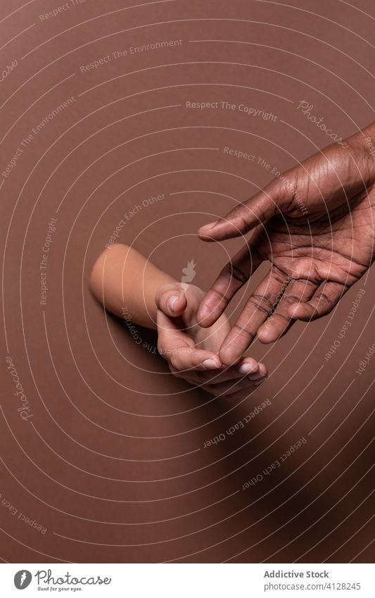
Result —
<instances>
[{"instance_id":1,"label":"lighter-skinned hand and forearm emerging through the brown backdrop","mask_svg":"<svg viewBox=\"0 0 375 598\"><path fill-rule=\"evenodd\" d=\"M158 349L173 375L200 385L216 397L254 390L267 369L250 357L236 366L221 363L217 352L230 325L220 316L209 328L197 324L203 291L182 285L132 247L113 244L98 256L89 288L105 309L136 324L158 330ZM125 311L124 311L125 310Z\"/></svg>"}]
</instances>

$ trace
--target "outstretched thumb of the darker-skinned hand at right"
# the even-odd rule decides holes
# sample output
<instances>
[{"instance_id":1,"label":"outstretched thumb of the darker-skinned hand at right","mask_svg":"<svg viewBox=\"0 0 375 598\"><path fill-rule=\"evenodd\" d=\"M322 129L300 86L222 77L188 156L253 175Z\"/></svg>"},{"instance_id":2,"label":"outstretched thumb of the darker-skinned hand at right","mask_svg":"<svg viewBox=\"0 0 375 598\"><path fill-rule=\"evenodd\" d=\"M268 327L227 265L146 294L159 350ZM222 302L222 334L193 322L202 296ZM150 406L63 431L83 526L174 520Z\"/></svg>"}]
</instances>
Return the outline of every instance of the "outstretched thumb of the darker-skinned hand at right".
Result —
<instances>
[{"instance_id":1,"label":"outstretched thumb of the darker-skinned hand at right","mask_svg":"<svg viewBox=\"0 0 375 598\"><path fill-rule=\"evenodd\" d=\"M284 184L286 178L269 183L265 189L253 195L248 201L239 204L215 222L206 224L198 230L203 241L222 241L232 237L240 237L259 224L267 222L273 216L281 215L286 201L293 197L293 184Z\"/></svg>"}]
</instances>

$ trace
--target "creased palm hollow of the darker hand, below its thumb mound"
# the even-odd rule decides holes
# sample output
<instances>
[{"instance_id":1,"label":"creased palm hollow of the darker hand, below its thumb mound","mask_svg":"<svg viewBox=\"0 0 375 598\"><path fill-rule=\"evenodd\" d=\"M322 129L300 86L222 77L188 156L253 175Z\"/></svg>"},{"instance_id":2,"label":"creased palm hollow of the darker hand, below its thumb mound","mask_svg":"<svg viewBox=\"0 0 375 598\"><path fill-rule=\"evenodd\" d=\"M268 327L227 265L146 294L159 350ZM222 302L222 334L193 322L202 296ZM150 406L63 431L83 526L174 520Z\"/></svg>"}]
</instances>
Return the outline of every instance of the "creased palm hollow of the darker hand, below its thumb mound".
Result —
<instances>
[{"instance_id":1,"label":"creased palm hollow of the darker hand, below its thumb mound","mask_svg":"<svg viewBox=\"0 0 375 598\"><path fill-rule=\"evenodd\" d=\"M374 190L371 193L375 200ZM326 214L307 224L276 217L260 231L255 244L258 254L286 277L295 278L293 273L299 272L313 282L333 280L350 286L371 264L374 220L375 208L364 198L334 219Z\"/></svg>"}]
</instances>

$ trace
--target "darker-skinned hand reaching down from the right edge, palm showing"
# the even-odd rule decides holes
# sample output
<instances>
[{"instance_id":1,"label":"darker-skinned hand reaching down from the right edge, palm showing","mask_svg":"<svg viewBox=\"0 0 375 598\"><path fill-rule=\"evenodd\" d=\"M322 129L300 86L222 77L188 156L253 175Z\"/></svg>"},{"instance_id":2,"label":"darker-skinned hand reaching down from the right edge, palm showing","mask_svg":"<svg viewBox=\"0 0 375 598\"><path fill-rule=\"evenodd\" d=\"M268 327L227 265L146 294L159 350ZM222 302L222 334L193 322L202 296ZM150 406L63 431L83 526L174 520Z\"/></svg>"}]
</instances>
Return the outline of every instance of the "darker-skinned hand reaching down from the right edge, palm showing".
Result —
<instances>
[{"instance_id":1,"label":"darker-skinned hand reaching down from the right edge, palm showing","mask_svg":"<svg viewBox=\"0 0 375 598\"><path fill-rule=\"evenodd\" d=\"M222 363L235 363L256 335L274 342L295 320L325 316L374 261L375 125L345 145L326 147L199 230L205 241L253 230L205 295L198 311L203 327L220 317L262 261L271 263L220 347Z\"/></svg>"}]
</instances>

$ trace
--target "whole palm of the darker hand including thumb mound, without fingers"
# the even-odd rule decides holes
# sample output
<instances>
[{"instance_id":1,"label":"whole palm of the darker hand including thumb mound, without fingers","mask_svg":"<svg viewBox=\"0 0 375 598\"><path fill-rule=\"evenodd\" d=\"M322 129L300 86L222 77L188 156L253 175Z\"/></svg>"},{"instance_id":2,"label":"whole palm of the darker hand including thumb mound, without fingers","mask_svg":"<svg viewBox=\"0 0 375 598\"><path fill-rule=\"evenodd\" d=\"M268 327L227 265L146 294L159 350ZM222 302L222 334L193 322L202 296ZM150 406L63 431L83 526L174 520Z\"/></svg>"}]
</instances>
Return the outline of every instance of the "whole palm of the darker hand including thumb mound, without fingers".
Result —
<instances>
[{"instance_id":1,"label":"whole palm of the darker hand including thumb mound, without fingers","mask_svg":"<svg viewBox=\"0 0 375 598\"><path fill-rule=\"evenodd\" d=\"M264 239L265 256L286 272L292 264L294 269L295 259L310 259L312 275L317 274L318 280L326 278L327 269L334 279L355 282L360 278L373 254L372 170L366 152L353 160L352 151L343 153L331 146L305 161L303 170L293 169L289 177L286 173L285 180L290 182L284 189L289 196L293 191L292 201L282 216L266 225L269 248Z\"/></svg>"}]
</instances>

